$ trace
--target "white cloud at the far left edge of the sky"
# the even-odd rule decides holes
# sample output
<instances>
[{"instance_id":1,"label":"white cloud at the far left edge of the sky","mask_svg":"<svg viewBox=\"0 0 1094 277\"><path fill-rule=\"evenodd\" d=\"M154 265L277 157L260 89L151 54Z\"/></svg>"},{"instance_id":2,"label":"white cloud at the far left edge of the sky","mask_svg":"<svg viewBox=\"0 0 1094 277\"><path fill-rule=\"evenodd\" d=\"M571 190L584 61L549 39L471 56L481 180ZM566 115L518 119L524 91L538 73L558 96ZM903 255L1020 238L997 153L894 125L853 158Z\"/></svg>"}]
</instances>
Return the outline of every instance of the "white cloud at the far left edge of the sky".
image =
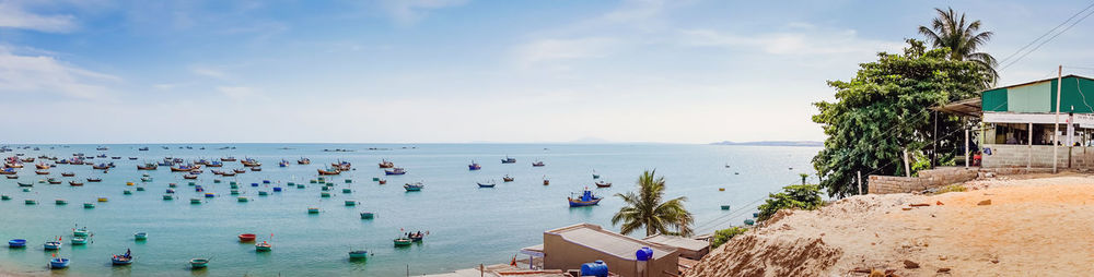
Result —
<instances>
[{"instance_id":1,"label":"white cloud at the far left edge of the sky","mask_svg":"<svg viewBox=\"0 0 1094 277\"><path fill-rule=\"evenodd\" d=\"M20 56L0 47L0 93L59 92L72 97L97 98L108 88L102 83L119 77L77 68L48 56Z\"/></svg>"}]
</instances>

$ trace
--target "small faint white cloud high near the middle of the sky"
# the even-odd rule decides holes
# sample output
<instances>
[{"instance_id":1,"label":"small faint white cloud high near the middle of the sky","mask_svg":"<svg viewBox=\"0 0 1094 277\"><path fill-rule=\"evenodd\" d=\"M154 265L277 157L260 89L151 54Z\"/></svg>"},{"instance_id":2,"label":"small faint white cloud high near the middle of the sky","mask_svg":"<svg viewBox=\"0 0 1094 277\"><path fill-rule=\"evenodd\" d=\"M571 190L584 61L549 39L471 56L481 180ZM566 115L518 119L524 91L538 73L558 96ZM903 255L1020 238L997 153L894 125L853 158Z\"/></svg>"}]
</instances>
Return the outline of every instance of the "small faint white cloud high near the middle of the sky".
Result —
<instances>
[{"instance_id":1,"label":"small faint white cloud high near the middle of the sky","mask_svg":"<svg viewBox=\"0 0 1094 277\"><path fill-rule=\"evenodd\" d=\"M517 46L515 55L517 62L527 67L538 62L605 57L618 46L618 40L606 37L539 39Z\"/></svg>"}]
</instances>

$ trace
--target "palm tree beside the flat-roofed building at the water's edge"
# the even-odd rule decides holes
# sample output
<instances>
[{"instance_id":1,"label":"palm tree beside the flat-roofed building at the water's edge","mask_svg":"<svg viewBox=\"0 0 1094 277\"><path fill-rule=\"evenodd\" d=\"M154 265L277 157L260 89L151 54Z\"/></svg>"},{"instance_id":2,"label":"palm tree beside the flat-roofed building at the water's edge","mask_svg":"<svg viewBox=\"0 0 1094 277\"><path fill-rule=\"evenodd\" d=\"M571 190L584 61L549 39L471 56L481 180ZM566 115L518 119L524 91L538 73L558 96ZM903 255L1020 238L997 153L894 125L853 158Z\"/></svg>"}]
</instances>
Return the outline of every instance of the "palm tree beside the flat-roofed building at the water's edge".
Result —
<instances>
[{"instance_id":1,"label":"palm tree beside the flat-roofed building at the water's edge","mask_svg":"<svg viewBox=\"0 0 1094 277\"><path fill-rule=\"evenodd\" d=\"M679 196L662 202L665 194L665 178L655 177L656 170L645 170L638 178L638 194L616 193L626 205L612 217L612 225L622 221L620 232L629 234L639 228L645 228L645 236L657 233L676 233L691 236L691 224L695 218L684 208L687 197ZM670 229L676 229L676 232Z\"/></svg>"}]
</instances>

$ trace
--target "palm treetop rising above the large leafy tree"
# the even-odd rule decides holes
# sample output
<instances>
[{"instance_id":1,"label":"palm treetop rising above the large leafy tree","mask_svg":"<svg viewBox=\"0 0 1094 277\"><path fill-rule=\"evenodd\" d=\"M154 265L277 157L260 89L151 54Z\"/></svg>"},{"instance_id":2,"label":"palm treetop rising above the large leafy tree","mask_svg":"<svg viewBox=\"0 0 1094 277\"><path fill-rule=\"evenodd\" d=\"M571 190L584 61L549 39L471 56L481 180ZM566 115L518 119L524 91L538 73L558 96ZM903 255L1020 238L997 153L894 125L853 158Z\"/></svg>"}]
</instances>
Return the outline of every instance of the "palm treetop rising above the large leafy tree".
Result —
<instances>
[{"instance_id":1,"label":"palm treetop rising above the large leafy tree","mask_svg":"<svg viewBox=\"0 0 1094 277\"><path fill-rule=\"evenodd\" d=\"M976 51L977 48L988 43L993 33L990 31L980 32L980 21L965 22L965 13L959 16L953 8L945 11L934 8L939 17L931 21L931 27L919 26L919 34L927 37L935 48L950 48L950 59L955 61L971 61L979 64L986 74L988 83L993 85L999 79L996 58L986 52Z\"/></svg>"}]
</instances>

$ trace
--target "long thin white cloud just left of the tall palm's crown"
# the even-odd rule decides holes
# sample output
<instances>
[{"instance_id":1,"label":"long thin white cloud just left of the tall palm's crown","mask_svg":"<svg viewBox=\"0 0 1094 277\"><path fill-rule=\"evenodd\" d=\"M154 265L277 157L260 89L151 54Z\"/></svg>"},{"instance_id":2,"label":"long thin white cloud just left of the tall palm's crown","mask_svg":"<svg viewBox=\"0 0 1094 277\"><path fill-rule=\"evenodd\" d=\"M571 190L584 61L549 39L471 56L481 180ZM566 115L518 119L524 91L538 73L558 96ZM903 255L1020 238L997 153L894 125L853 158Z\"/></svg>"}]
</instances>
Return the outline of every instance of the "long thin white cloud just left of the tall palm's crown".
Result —
<instances>
[{"instance_id":1,"label":"long thin white cloud just left of the tall palm's crown","mask_svg":"<svg viewBox=\"0 0 1094 277\"><path fill-rule=\"evenodd\" d=\"M853 29L736 35L711 29L686 29L682 41L690 46L754 48L773 55L874 53L898 50L903 43L858 37Z\"/></svg>"}]
</instances>

